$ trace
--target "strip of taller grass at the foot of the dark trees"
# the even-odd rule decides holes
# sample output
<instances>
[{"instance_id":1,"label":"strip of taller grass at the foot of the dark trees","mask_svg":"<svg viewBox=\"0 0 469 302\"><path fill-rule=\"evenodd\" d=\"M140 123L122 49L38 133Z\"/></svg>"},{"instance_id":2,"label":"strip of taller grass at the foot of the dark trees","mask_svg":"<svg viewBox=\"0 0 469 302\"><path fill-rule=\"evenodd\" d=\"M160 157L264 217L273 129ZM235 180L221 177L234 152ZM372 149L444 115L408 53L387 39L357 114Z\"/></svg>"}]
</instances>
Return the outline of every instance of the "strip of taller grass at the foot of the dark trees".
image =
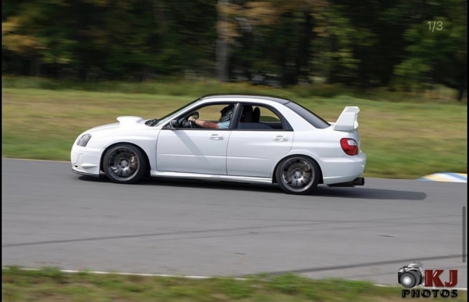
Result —
<instances>
[{"instance_id":1,"label":"strip of taller grass at the foot of the dark trees","mask_svg":"<svg viewBox=\"0 0 469 302\"><path fill-rule=\"evenodd\" d=\"M247 82L220 83L211 78L188 80L169 77L159 81L145 82L81 82L70 79L57 80L4 75L2 76L2 88L144 93L173 96L201 96L211 93L266 93L292 99L305 97L330 98L338 95L348 95L391 102L449 102L455 100L458 94L455 89L438 85L429 86L427 90L420 92L390 92L387 88L374 88L363 91L354 87L330 84L298 85L285 89L256 86ZM464 102L467 103L467 99Z\"/></svg>"}]
</instances>

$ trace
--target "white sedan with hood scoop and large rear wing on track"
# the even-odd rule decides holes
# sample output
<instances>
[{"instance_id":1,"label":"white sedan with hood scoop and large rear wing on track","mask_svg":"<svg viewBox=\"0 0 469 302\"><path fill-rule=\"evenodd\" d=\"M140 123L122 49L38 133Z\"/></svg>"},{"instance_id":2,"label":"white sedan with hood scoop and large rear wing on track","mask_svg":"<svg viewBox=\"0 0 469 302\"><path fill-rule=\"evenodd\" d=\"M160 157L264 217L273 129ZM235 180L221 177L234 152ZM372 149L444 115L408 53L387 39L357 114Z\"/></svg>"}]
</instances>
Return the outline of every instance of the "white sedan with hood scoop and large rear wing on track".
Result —
<instances>
[{"instance_id":1,"label":"white sedan with hood scoop and large rear wing on track","mask_svg":"<svg viewBox=\"0 0 469 302\"><path fill-rule=\"evenodd\" d=\"M268 183L289 194L363 185L358 107L329 123L284 98L207 95L159 119L118 117L80 134L75 173L135 183L145 176Z\"/></svg>"}]
</instances>

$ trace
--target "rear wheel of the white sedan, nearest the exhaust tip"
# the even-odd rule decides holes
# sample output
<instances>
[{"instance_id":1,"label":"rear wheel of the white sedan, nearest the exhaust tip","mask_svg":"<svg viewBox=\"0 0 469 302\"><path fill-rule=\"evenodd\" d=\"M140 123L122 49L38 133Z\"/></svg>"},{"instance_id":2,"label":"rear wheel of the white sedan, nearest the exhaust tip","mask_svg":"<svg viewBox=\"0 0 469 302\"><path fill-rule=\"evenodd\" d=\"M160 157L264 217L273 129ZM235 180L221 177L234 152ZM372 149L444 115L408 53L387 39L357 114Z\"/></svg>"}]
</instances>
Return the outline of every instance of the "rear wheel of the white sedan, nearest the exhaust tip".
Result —
<instances>
[{"instance_id":1,"label":"rear wheel of the white sedan, nearest the exhaust tip","mask_svg":"<svg viewBox=\"0 0 469 302\"><path fill-rule=\"evenodd\" d=\"M285 193L307 195L316 190L320 170L312 159L297 155L283 159L277 166L275 177Z\"/></svg>"}]
</instances>

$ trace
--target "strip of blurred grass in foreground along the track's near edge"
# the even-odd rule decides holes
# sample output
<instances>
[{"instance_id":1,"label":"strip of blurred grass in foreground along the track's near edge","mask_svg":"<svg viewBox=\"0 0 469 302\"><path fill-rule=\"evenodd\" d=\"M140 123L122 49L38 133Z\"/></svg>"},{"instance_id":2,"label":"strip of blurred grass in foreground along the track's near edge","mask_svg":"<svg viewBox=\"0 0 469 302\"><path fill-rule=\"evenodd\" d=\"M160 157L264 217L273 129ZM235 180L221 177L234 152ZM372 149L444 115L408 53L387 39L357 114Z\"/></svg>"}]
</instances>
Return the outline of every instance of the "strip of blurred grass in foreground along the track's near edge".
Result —
<instances>
[{"instance_id":1,"label":"strip of blurred grass in foreground along the track's near edge","mask_svg":"<svg viewBox=\"0 0 469 302\"><path fill-rule=\"evenodd\" d=\"M67 274L54 268L25 271L17 267L3 269L1 279L5 302L397 302L402 301L403 289L361 281L311 280L292 274L194 280ZM451 301L467 300L466 292L458 294Z\"/></svg>"}]
</instances>

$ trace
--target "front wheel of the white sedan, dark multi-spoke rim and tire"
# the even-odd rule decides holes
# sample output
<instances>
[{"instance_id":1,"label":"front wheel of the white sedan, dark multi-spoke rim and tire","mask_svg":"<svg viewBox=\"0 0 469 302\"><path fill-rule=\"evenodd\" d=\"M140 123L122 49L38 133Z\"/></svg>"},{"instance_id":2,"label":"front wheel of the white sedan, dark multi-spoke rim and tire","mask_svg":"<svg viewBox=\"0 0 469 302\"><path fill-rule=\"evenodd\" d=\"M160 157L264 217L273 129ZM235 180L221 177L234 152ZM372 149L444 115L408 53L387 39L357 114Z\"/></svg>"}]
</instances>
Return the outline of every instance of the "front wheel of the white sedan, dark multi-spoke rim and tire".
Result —
<instances>
[{"instance_id":1,"label":"front wheel of the white sedan, dark multi-spoke rim and tire","mask_svg":"<svg viewBox=\"0 0 469 302\"><path fill-rule=\"evenodd\" d=\"M142 151L130 144L115 145L104 154L104 173L115 183L133 184L145 175L147 167Z\"/></svg>"}]
</instances>

